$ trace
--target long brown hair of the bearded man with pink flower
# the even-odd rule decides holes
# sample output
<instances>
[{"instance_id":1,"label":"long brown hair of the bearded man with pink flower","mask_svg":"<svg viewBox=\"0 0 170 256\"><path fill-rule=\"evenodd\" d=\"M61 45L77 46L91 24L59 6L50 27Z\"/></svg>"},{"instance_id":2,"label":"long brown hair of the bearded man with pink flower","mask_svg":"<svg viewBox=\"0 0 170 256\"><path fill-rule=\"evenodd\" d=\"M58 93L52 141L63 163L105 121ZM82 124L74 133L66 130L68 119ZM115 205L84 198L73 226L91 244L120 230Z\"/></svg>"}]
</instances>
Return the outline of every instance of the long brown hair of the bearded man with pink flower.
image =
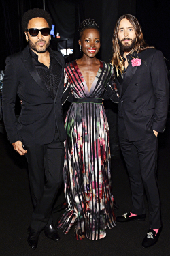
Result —
<instances>
[{"instance_id":1,"label":"long brown hair of the bearded man with pink flower","mask_svg":"<svg viewBox=\"0 0 170 256\"><path fill-rule=\"evenodd\" d=\"M141 31L141 25L139 24L139 21L137 20L137 18L135 18L135 16L131 15L131 14L125 14L122 15L117 23L116 23L116 27L114 29L114 34L112 37L112 42L113 42L113 57L112 57L112 65L115 66L116 68L116 74L117 76L119 76L119 70L121 75L123 74L124 71L124 61L122 56L120 55L120 45L118 43L118 28L120 26L120 21L126 18L126 20L129 20L129 22L131 23L131 25L133 25L134 29L135 29L135 34L136 34L136 43L135 46L133 47L133 49L131 50L131 54L133 52L141 52L143 50L146 50L148 48L154 48L152 46L148 46L148 44L146 44L145 40L143 39L143 33Z\"/></svg>"}]
</instances>

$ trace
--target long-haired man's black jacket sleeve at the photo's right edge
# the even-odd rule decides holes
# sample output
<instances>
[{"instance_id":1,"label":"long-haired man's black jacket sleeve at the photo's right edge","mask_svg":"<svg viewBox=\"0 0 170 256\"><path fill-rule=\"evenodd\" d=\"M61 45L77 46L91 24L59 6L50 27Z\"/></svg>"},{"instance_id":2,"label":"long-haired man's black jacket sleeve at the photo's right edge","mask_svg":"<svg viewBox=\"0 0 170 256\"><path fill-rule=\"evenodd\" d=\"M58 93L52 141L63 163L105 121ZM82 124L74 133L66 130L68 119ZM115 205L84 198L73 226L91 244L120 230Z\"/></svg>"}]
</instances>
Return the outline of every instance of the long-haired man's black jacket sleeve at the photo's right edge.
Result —
<instances>
[{"instance_id":1,"label":"long-haired man's black jacket sleeve at the photo's right edge","mask_svg":"<svg viewBox=\"0 0 170 256\"><path fill-rule=\"evenodd\" d=\"M156 53L154 53L150 74L156 98L152 129L156 130L156 132L164 132L169 104L169 83L167 66L161 51L156 51Z\"/></svg>"}]
</instances>

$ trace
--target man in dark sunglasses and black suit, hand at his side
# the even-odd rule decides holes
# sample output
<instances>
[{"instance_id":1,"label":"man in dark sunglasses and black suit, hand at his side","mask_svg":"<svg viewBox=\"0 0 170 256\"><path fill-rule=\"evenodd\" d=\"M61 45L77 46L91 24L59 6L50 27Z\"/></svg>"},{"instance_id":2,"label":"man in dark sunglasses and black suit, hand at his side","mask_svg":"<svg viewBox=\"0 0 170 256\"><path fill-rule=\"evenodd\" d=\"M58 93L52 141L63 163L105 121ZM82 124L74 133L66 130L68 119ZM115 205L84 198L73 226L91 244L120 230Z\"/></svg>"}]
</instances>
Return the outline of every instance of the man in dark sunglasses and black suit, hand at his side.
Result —
<instances>
[{"instance_id":1,"label":"man in dark sunglasses and black suit, hand at his side","mask_svg":"<svg viewBox=\"0 0 170 256\"><path fill-rule=\"evenodd\" d=\"M60 239L52 223L52 206L63 180L64 59L49 48L51 25L50 15L44 10L24 14L22 27L29 45L7 57L3 81L7 137L16 152L27 156L29 166L34 210L27 233L33 249L42 230L48 238ZM22 100L18 120L14 111L16 94Z\"/></svg>"}]
</instances>

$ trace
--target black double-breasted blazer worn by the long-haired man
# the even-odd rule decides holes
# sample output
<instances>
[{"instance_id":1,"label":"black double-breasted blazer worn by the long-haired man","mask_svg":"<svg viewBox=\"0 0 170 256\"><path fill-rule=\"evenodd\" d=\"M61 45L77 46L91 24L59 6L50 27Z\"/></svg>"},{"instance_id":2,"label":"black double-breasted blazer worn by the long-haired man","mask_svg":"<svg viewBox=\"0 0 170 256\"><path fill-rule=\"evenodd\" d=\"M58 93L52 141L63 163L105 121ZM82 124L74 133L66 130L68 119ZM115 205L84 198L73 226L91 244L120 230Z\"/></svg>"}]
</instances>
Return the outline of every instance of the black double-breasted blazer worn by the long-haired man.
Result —
<instances>
[{"instance_id":1,"label":"black double-breasted blazer worn by the long-haired man","mask_svg":"<svg viewBox=\"0 0 170 256\"><path fill-rule=\"evenodd\" d=\"M133 67L130 57L124 79L116 77L119 136L129 141L145 139L152 130L163 132L169 103L163 53L150 48L133 57L141 59L141 65Z\"/></svg>"}]
</instances>

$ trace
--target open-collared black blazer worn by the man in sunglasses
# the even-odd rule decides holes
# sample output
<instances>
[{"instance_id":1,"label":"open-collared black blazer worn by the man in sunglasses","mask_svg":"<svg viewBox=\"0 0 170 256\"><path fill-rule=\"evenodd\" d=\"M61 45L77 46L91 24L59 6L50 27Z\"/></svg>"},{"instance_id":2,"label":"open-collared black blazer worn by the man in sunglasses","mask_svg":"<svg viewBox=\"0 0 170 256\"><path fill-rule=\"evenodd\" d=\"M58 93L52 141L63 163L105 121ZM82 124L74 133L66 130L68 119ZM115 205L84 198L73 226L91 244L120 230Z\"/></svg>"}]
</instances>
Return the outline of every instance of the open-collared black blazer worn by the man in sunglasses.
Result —
<instances>
[{"instance_id":1,"label":"open-collared black blazer worn by the man in sunglasses","mask_svg":"<svg viewBox=\"0 0 170 256\"><path fill-rule=\"evenodd\" d=\"M61 53L56 51L53 53L62 66L61 81L54 99L35 70L29 46L6 59L3 80L3 119L10 143L20 140L29 145L48 144L54 139L56 126L60 141L66 139L61 105L64 59ZM14 113L16 94L22 100L18 120Z\"/></svg>"}]
</instances>

